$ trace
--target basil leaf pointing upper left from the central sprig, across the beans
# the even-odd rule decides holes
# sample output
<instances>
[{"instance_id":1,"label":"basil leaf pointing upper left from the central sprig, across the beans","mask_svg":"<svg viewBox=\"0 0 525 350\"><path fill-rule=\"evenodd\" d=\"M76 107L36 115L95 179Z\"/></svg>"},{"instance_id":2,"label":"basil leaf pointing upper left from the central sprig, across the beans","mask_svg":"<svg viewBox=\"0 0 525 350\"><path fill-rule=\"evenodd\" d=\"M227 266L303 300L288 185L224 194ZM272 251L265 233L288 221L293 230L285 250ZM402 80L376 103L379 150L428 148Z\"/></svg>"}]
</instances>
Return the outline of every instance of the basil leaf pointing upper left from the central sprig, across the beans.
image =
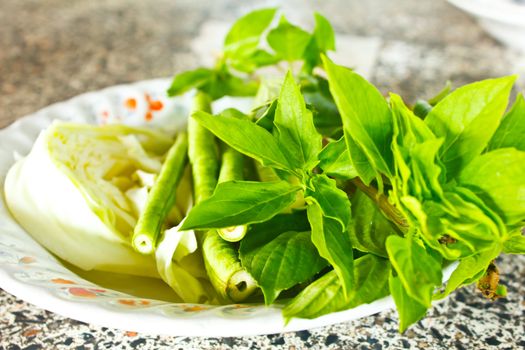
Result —
<instances>
[{"instance_id":1,"label":"basil leaf pointing upper left from the central sprig, across the beans","mask_svg":"<svg viewBox=\"0 0 525 350\"><path fill-rule=\"evenodd\" d=\"M213 116L201 111L194 113L192 118L228 146L262 164L283 170L291 168L272 134L251 121Z\"/></svg>"}]
</instances>

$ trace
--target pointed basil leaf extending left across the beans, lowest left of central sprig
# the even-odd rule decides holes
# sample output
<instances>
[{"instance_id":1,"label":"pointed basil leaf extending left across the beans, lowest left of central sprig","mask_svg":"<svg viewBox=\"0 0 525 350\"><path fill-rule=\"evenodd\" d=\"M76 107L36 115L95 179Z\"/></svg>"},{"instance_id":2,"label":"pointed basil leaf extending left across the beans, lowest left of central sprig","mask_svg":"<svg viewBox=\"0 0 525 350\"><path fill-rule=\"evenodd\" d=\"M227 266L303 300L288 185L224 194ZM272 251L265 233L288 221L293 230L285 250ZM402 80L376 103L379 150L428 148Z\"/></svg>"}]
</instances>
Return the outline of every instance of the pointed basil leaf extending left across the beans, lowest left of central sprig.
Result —
<instances>
[{"instance_id":1,"label":"pointed basil leaf extending left across the beans, lowest left of central sprig","mask_svg":"<svg viewBox=\"0 0 525 350\"><path fill-rule=\"evenodd\" d=\"M212 229L266 221L295 201L301 188L286 181L228 181L186 216L181 230Z\"/></svg>"}]
</instances>

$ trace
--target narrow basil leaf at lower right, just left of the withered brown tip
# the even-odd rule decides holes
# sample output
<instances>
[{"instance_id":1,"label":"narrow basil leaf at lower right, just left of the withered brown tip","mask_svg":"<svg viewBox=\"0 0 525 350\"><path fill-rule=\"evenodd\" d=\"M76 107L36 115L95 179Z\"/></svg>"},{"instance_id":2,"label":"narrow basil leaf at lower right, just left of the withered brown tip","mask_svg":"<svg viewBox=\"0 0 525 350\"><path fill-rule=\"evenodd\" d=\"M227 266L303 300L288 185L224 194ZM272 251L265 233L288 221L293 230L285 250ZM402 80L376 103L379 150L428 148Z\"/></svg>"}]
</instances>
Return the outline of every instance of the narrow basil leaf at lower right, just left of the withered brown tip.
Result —
<instances>
[{"instance_id":1,"label":"narrow basil leaf at lower right, just left of the withered brown tip","mask_svg":"<svg viewBox=\"0 0 525 350\"><path fill-rule=\"evenodd\" d=\"M456 289L477 281L483 276L491 261L498 257L500 251L501 246L494 245L492 249L461 259L458 267L450 275L445 290L436 295L435 299L444 298Z\"/></svg>"}]
</instances>

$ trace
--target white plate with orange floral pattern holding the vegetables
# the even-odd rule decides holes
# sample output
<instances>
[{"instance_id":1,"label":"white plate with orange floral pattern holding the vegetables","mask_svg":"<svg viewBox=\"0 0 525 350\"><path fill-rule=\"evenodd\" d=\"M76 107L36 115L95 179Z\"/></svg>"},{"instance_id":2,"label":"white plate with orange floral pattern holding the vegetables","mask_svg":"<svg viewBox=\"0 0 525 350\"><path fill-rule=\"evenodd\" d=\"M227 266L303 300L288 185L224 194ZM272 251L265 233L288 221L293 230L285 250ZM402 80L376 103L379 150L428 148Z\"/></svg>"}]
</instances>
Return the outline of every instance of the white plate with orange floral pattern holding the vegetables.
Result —
<instances>
[{"instance_id":1,"label":"white plate with orange floral pattern holding the vegetables","mask_svg":"<svg viewBox=\"0 0 525 350\"><path fill-rule=\"evenodd\" d=\"M285 326L280 306L209 306L169 302L169 291L152 293L148 280L83 273L66 268L11 217L3 195L5 176L16 157L31 149L53 119L83 123L184 127L189 96L168 99L168 79L115 86L57 103L0 131L0 287L38 307L79 321L147 334L245 336L297 331L369 316L394 307L391 297L313 320ZM160 108L162 107L162 108ZM222 99L214 109L250 108L248 99ZM38 175L36 175L38 176ZM448 279L452 268L444 271ZM95 282L96 281L96 282ZM149 281L151 282L151 280ZM153 281L156 286L161 284ZM138 295L138 296L137 296ZM160 300L159 300L160 299ZM164 300L164 301L162 301Z\"/></svg>"}]
</instances>

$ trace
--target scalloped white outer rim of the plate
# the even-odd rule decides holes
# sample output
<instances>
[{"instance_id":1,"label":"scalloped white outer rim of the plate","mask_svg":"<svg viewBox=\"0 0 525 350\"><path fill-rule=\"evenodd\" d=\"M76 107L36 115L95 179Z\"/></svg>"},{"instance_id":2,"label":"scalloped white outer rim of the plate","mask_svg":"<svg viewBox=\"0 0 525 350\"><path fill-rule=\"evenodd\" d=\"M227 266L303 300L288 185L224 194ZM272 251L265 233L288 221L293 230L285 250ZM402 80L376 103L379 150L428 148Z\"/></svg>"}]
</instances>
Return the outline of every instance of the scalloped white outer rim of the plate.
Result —
<instances>
[{"instance_id":1,"label":"scalloped white outer rim of the plate","mask_svg":"<svg viewBox=\"0 0 525 350\"><path fill-rule=\"evenodd\" d=\"M11 124L0 129L0 136L7 135L14 132L23 132L18 130L23 128L25 124L30 123L33 120L40 118L48 118L48 121L52 121L47 114L56 108L64 108L67 105L79 103L82 100L88 98L94 98L97 95L104 96L117 89L129 89L129 88L146 88L160 89L160 85L168 86L170 78L156 78L148 80L140 80L129 84L118 84L108 86L99 90L88 91L64 101L55 102L44 108L41 108L33 113L18 118ZM40 125L38 131L43 130ZM36 137L31 137L31 142L34 142ZM11 163L12 165L13 163ZM5 182L5 174L0 174L2 179L0 185L3 193L3 187ZM0 203L5 206L5 198L2 195ZM38 244L31 235L25 231L14 218L9 214L7 207L7 218L11 219L17 225L17 229L20 229L29 239L33 240ZM0 213L0 220L5 220L6 217ZM43 248L40 244L39 247ZM52 254L46 250L46 254L50 255L57 264L60 264L58 260ZM447 281L452 274L457 263L447 266L443 269L443 282ZM60 264L60 266L62 266ZM130 309L122 310L116 308L110 308L104 306L102 302L89 302L79 300L69 300L60 297L56 292L53 292L50 288L43 287L41 285L28 283L17 279L14 276L15 269L8 263L0 262L0 288L6 292L14 295L15 297L22 299L32 305L39 308L54 312L61 316L86 322L91 325L99 327L116 328L125 331L137 331L143 334L149 335L168 335L168 336L198 336L198 337L238 337L238 336L255 336L265 334L276 334L283 332L293 332L305 329L314 329L324 326L329 326L337 323L347 322L358 318L363 318L377 314L381 311L386 311L395 308L395 303L392 297L387 297L376 300L370 304L363 304L356 308L343 310L339 312L333 312L315 319L299 319L294 318L288 324L284 323L284 318L281 315L281 308L270 306L265 307L263 305L257 306L264 308L265 314L259 319L259 316L244 318L232 318L232 317L219 317L217 314L204 313L200 315L192 315L189 317L175 317L164 315L161 313L148 313L145 312L148 309L155 308L152 306L143 309ZM70 270L68 270L70 271ZM74 272L70 271L72 274ZM78 276L74 274L75 276ZM78 276L79 277L79 276ZM83 280L82 278L80 278ZM111 289L108 289L111 290ZM120 292L119 292L120 293ZM169 305L172 303L164 302ZM106 303L107 304L107 303ZM173 303L175 304L175 303ZM164 304L161 304L164 305ZM213 310L219 310L227 306L217 306L212 308ZM210 316L211 315L211 316ZM123 317L124 316L124 317ZM130 317L136 316L136 317ZM194 322L191 322L193 318ZM264 321L264 322L261 322Z\"/></svg>"}]
</instances>

